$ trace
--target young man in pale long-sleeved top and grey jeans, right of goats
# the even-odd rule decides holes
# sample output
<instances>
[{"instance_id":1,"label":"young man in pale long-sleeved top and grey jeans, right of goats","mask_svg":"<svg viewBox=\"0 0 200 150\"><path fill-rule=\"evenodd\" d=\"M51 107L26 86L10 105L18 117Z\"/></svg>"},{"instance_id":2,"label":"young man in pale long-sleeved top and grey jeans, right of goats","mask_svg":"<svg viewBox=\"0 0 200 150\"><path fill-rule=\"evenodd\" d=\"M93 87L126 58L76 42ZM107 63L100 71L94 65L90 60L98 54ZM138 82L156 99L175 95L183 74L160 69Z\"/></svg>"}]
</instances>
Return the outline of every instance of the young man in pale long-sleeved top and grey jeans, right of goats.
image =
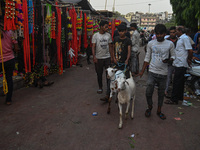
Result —
<instances>
[{"instance_id":1,"label":"young man in pale long-sleeved top and grey jeans, right of goats","mask_svg":"<svg viewBox=\"0 0 200 150\"><path fill-rule=\"evenodd\" d=\"M156 40L152 40L147 45L147 53L144 59L144 64L142 71L138 76L142 77L144 71L149 65L149 74L147 79L146 88L146 99L148 108L145 111L145 116L151 116L151 110L153 108L152 96L154 92L155 84L158 85L158 108L157 115L161 119L166 119L166 116L162 113L161 107L164 100L165 85L167 79L167 67L168 61L173 61L175 59L174 44L165 40L164 36L166 34L166 27L163 24L157 24L155 26ZM169 55L171 56L169 59Z\"/></svg>"}]
</instances>

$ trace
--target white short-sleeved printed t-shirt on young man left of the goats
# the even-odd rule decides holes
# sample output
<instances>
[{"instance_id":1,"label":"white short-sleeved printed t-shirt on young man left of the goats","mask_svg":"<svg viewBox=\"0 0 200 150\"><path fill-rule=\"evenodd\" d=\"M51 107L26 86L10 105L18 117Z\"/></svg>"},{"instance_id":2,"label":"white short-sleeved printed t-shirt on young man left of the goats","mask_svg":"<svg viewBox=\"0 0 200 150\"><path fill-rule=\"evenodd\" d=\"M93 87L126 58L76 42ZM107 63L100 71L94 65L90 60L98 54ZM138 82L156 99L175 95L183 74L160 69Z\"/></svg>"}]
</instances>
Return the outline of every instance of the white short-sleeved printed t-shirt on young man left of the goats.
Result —
<instances>
[{"instance_id":1,"label":"white short-sleeved printed t-shirt on young man left of the goats","mask_svg":"<svg viewBox=\"0 0 200 150\"><path fill-rule=\"evenodd\" d=\"M109 33L95 33L92 37L92 43L96 44L95 56L97 59L110 57L109 43L112 43L112 37Z\"/></svg>"}]
</instances>

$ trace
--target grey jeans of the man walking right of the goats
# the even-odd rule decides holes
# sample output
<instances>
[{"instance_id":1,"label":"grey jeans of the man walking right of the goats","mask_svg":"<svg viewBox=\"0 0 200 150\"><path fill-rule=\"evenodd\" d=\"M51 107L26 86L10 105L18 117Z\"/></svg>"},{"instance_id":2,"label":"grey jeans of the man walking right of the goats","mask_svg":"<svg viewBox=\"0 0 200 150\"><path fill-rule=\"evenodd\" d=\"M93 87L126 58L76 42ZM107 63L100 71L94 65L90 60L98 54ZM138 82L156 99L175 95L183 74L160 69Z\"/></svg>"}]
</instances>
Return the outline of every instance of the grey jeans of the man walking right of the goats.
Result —
<instances>
[{"instance_id":1,"label":"grey jeans of the man walking right of the goats","mask_svg":"<svg viewBox=\"0 0 200 150\"><path fill-rule=\"evenodd\" d=\"M146 89L146 99L149 106L153 105L152 96L156 83L158 85L158 106L161 107L163 105L166 79L167 75L160 75L149 72Z\"/></svg>"}]
</instances>

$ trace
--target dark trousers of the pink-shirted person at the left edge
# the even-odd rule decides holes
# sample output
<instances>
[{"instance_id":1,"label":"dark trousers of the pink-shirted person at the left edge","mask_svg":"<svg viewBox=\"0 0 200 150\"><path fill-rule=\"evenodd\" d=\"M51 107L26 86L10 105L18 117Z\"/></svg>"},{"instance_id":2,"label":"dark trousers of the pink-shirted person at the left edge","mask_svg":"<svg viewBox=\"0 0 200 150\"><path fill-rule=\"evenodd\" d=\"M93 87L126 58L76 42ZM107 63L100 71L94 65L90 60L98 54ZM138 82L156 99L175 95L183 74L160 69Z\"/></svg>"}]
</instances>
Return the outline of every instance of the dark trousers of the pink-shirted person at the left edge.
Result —
<instances>
[{"instance_id":1,"label":"dark trousers of the pink-shirted person at the left edge","mask_svg":"<svg viewBox=\"0 0 200 150\"><path fill-rule=\"evenodd\" d=\"M6 102L12 101L13 93L13 70L15 68L15 59L8 60L4 62L4 69L6 72L6 80L8 85L8 93L6 94ZM2 63L0 63L0 71L2 71Z\"/></svg>"}]
</instances>

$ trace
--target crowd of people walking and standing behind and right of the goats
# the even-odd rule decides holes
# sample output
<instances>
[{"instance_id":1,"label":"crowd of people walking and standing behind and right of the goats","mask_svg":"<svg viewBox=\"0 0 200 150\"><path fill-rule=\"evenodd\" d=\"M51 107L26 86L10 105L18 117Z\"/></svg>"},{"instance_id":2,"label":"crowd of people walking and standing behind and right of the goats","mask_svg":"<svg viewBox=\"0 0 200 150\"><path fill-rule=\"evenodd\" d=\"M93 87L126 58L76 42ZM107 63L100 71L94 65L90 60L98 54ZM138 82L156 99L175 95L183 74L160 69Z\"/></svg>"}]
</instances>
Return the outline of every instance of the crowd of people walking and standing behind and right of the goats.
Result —
<instances>
[{"instance_id":1,"label":"crowd of people walking and standing behind and right of the goats","mask_svg":"<svg viewBox=\"0 0 200 150\"><path fill-rule=\"evenodd\" d=\"M100 31L92 37L93 62L97 73L99 89L98 94L103 92L102 75L104 68L112 65L119 70L123 70L126 78L129 78L128 72L132 76L142 77L146 68L149 68L146 100L147 109L145 116L151 116L153 108L152 95L155 86L158 87L158 107L157 115L166 119L161 111L164 97L167 99L165 104L178 104L183 101L184 94L184 74L191 66L192 60L200 60L200 30L194 36L194 41L190 37L190 30L184 26L172 26L167 29L163 24L157 24L155 29L148 32L148 38L145 38L145 32L137 30L137 24L130 24L130 32L127 30L127 24L121 23L114 33L114 36L107 32L108 22L101 21ZM112 41L113 38L113 41ZM142 46L145 46L145 58L141 71L139 71L139 47L140 40ZM174 75L173 75L174 74ZM173 78L172 78L173 77ZM106 96L102 101L108 101L110 93L110 81L107 80ZM173 83L172 93L169 93L169 85Z\"/></svg>"}]
</instances>

